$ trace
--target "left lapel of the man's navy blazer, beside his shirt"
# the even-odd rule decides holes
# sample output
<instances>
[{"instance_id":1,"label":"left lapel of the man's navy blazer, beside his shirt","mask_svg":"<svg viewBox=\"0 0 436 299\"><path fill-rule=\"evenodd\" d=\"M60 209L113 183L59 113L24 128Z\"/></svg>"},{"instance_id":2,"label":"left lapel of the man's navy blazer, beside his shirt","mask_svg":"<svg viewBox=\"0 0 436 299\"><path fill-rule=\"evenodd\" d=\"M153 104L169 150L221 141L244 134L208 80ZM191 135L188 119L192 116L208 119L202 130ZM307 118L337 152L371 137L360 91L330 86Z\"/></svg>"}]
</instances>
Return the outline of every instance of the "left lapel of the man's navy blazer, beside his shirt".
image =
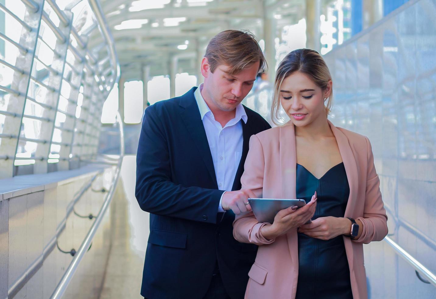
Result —
<instances>
[{"instance_id":1,"label":"left lapel of the man's navy blazer, beside his shirt","mask_svg":"<svg viewBox=\"0 0 436 299\"><path fill-rule=\"evenodd\" d=\"M194 97L195 89L196 87L192 88L181 97L180 106L184 108L184 110L181 111L181 117L189 134L192 137L193 143L198 149L198 156L201 156L202 160L206 164L211 179L214 181L215 186L218 189L208 137L206 136L206 131L204 130L204 125L201 121L200 110L198 109L198 105Z\"/></svg>"}]
</instances>

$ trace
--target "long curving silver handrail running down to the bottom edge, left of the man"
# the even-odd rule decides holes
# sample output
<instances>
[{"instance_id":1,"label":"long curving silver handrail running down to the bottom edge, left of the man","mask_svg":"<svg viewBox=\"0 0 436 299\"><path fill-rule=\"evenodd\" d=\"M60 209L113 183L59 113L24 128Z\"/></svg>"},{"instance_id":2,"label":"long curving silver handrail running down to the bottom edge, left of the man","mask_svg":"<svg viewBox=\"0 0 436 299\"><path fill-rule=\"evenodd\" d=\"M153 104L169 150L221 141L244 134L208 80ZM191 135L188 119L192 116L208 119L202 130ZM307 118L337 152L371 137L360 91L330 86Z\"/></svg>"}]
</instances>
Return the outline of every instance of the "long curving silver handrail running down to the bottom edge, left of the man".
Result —
<instances>
[{"instance_id":1,"label":"long curving silver handrail running down to the bottom edge, left of the man","mask_svg":"<svg viewBox=\"0 0 436 299\"><path fill-rule=\"evenodd\" d=\"M114 183L111 185L111 188L109 192L106 195L105 202L103 203L98 216L95 218L94 223L92 224L91 228L89 229L88 234L85 237L85 240L82 242L82 245L77 250L75 256L73 257L73 260L71 261L70 265L68 266L67 271L65 271L64 275L61 278L61 281L56 286L56 289L54 289L54 292L51 295L51 299L57 299L61 298L61 296L64 294L65 290L68 287L68 284L70 283L75 271L77 270L77 267L82 261L83 256L85 255L86 250L88 250L89 245L92 242L92 239L95 235L95 232L100 226L100 223L102 222L103 217L106 214L107 209L109 208L109 205L112 201L113 194L115 192L116 184L118 182L120 170L121 170L121 164L123 163L123 156L124 156L124 130L123 130L123 121L121 118L121 115L119 112L117 112L117 122L119 123L119 139L120 139L120 155L118 160L118 165L116 167L115 171L115 179Z\"/></svg>"}]
</instances>

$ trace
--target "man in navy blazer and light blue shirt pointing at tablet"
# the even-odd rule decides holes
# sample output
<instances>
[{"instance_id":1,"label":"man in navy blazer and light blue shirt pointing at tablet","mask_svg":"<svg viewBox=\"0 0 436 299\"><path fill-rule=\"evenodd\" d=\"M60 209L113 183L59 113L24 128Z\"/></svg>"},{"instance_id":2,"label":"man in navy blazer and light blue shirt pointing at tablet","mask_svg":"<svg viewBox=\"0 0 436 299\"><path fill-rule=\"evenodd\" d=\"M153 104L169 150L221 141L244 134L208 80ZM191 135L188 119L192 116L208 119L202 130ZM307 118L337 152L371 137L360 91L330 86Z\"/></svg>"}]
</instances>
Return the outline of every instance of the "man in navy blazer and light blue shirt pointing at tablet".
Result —
<instances>
[{"instance_id":1,"label":"man in navy blazer and light blue shirt pointing at tablet","mask_svg":"<svg viewBox=\"0 0 436 299\"><path fill-rule=\"evenodd\" d=\"M150 212L141 295L243 298L257 246L233 238L249 138L269 124L241 101L265 58L249 32L211 39L204 83L146 109L136 157L136 199Z\"/></svg>"}]
</instances>

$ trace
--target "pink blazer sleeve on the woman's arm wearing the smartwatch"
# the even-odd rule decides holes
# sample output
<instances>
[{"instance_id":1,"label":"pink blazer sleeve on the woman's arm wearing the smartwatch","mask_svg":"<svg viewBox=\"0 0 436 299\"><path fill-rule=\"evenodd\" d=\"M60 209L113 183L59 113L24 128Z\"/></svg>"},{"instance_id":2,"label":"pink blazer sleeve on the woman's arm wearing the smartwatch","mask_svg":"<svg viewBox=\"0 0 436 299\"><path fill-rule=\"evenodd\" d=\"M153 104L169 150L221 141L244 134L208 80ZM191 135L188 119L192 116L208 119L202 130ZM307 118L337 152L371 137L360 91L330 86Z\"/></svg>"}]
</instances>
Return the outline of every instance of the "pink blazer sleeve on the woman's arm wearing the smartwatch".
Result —
<instances>
[{"instance_id":1,"label":"pink blazer sleeve on the woman's arm wearing the smartwatch","mask_svg":"<svg viewBox=\"0 0 436 299\"><path fill-rule=\"evenodd\" d=\"M367 137L365 139L368 148L365 203L363 217L357 218L363 224L363 231L358 239L352 241L368 244L371 241L381 241L388 234L388 217L381 200L380 179L375 171L371 143Z\"/></svg>"}]
</instances>

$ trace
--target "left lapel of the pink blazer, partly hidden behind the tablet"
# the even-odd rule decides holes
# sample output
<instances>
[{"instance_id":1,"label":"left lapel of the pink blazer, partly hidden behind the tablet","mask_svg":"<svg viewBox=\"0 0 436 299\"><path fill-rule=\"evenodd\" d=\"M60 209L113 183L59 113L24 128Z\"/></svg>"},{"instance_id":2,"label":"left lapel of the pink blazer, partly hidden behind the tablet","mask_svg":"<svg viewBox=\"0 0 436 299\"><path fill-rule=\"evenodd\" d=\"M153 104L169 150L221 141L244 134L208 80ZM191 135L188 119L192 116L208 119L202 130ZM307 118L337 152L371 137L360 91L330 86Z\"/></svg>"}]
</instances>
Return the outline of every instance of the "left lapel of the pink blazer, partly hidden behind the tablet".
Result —
<instances>
[{"instance_id":1,"label":"left lapel of the pink blazer, partly hidden behind the tablet","mask_svg":"<svg viewBox=\"0 0 436 299\"><path fill-rule=\"evenodd\" d=\"M279 158L280 179L282 198L296 198L296 147L295 130L292 122L288 122L279 131ZM296 229L286 233L291 261L298 265L298 246ZM298 275L298 267L294 269L294 275Z\"/></svg>"}]
</instances>

